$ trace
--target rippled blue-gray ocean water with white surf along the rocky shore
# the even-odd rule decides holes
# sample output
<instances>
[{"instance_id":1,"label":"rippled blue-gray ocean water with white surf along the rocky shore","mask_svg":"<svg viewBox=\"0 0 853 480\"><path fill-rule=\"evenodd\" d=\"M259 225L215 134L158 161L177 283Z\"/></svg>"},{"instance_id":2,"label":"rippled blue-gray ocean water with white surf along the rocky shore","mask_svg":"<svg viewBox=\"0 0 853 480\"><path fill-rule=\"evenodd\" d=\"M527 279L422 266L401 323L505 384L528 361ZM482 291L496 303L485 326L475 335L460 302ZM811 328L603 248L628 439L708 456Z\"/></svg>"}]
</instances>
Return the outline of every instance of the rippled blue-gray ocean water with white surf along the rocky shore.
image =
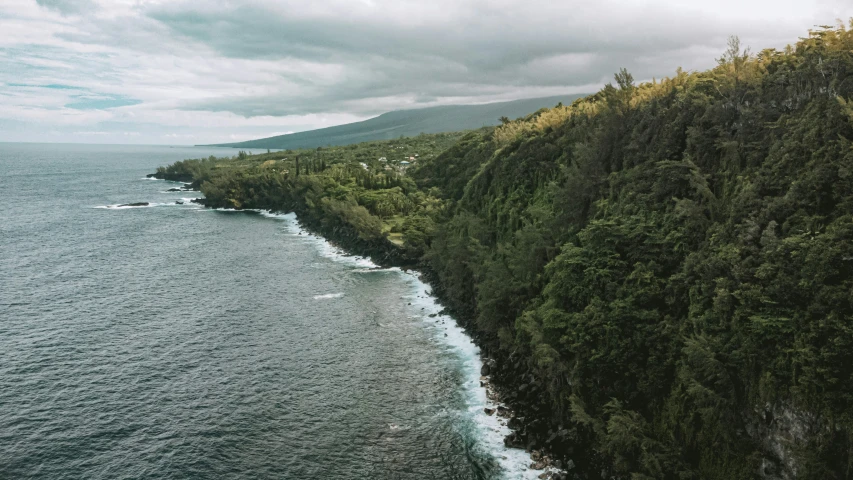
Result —
<instances>
[{"instance_id":1,"label":"rippled blue-gray ocean water with white surf along the rocky shore","mask_svg":"<svg viewBox=\"0 0 853 480\"><path fill-rule=\"evenodd\" d=\"M211 153L0 143L0 478L526 475L412 275L144 179Z\"/></svg>"}]
</instances>

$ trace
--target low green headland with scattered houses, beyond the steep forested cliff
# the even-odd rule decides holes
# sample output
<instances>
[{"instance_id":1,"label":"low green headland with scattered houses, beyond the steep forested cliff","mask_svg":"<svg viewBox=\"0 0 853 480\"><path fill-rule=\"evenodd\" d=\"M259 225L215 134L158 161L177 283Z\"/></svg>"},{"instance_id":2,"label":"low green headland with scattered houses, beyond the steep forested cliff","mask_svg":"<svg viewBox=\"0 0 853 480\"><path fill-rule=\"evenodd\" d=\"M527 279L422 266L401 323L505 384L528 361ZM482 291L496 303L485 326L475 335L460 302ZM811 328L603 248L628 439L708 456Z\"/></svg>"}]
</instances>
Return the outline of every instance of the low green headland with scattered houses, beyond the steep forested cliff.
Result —
<instances>
[{"instance_id":1,"label":"low green headland with scattered houses, beyond the steep forested cliff","mask_svg":"<svg viewBox=\"0 0 853 480\"><path fill-rule=\"evenodd\" d=\"M463 135L420 135L261 155L240 151L230 158L177 162L161 167L158 174L198 182L212 207L297 211L327 228L351 232L367 244L402 248L408 258L417 259L430 242L433 217L443 211L444 201L437 192L419 190L409 169L428 162ZM401 163L410 158L417 158L413 166Z\"/></svg>"}]
</instances>

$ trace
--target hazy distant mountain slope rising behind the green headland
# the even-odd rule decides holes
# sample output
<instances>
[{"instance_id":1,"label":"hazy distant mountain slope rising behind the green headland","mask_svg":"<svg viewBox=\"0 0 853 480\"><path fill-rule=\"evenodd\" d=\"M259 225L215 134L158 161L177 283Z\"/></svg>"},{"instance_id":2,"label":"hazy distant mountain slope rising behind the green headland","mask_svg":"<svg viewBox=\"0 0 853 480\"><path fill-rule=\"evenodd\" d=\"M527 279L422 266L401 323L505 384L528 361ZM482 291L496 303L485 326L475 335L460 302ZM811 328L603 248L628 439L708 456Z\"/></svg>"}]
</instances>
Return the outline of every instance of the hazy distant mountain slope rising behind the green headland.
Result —
<instances>
[{"instance_id":1,"label":"hazy distant mountain slope rising behind the green headland","mask_svg":"<svg viewBox=\"0 0 853 480\"><path fill-rule=\"evenodd\" d=\"M569 104L583 95L529 98L484 105L448 105L442 107L397 110L362 122L335 127L289 133L238 143L222 143L217 147L235 148L314 148L327 145L349 145L371 140L390 140L419 133L456 132L500 123L500 117L515 119L543 107L563 102Z\"/></svg>"}]
</instances>

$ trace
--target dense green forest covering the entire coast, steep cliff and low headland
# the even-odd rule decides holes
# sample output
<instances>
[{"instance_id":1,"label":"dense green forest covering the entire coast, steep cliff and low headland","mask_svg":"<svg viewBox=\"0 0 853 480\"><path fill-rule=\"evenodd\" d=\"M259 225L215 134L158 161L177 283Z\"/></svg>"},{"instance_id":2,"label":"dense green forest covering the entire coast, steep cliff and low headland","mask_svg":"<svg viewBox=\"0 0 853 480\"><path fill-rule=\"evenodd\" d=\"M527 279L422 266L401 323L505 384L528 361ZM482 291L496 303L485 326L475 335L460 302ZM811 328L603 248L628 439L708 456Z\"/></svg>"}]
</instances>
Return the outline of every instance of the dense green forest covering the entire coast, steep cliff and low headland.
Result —
<instances>
[{"instance_id":1,"label":"dense green forest covering the entire coast, steep cliff and low headland","mask_svg":"<svg viewBox=\"0 0 853 480\"><path fill-rule=\"evenodd\" d=\"M429 272L544 422L515 441L583 478L853 477L844 26L495 128L159 175Z\"/></svg>"}]
</instances>

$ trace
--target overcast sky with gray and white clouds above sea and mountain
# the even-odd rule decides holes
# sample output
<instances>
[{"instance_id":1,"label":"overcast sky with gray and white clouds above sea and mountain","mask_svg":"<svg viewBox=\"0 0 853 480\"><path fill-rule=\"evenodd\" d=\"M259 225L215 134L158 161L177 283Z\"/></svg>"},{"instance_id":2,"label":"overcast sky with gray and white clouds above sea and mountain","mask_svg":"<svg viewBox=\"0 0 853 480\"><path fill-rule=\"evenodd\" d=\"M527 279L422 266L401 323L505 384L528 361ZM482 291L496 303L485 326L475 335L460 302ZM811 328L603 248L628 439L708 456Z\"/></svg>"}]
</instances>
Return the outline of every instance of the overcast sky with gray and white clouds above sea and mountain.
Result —
<instances>
[{"instance_id":1,"label":"overcast sky with gray and white clouds above sea and mountain","mask_svg":"<svg viewBox=\"0 0 853 480\"><path fill-rule=\"evenodd\" d=\"M0 0L0 141L198 144L594 92L851 0Z\"/></svg>"}]
</instances>

